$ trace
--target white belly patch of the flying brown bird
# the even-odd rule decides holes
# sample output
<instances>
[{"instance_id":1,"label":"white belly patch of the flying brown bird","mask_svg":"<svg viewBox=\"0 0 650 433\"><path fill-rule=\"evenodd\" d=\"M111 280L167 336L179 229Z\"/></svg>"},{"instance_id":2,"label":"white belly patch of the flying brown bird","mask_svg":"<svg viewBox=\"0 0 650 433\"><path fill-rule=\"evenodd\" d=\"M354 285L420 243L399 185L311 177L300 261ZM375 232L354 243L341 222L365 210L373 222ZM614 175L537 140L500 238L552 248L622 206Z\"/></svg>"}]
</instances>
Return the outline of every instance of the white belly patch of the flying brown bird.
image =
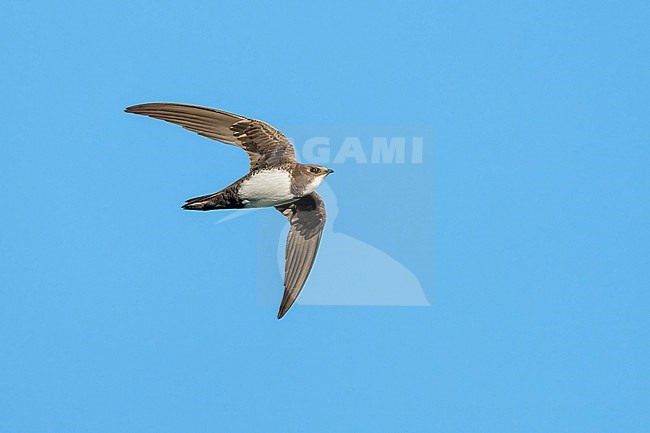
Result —
<instances>
[{"instance_id":1,"label":"white belly patch of the flying brown bird","mask_svg":"<svg viewBox=\"0 0 650 433\"><path fill-rule=\"evenodd\" d=\"M263 170L242 182L239 198L246 207L268 207L295 199L291 194L291 178L285 170Z\"/></svg>"}]
</instances>

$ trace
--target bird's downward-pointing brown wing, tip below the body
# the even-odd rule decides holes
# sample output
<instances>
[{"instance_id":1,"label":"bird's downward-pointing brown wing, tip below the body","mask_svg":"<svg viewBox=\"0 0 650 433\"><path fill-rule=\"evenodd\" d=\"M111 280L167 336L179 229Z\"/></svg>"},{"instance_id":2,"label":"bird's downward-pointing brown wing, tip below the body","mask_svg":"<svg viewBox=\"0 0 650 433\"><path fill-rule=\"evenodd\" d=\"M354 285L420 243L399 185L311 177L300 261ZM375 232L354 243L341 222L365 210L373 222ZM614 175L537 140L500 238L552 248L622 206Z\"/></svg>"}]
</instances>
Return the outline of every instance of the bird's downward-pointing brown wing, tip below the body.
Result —
<instances>
[{"instance_id":1,"label":"bird's downward-pointing brown wing, tip below the body","mask_svg":"<svg viewBox=\"0 0 650 433\"><path fill-rule=\"evenodd\" d=\"M281 319L307 281L316 259L327 214L323 199L315 192L275 208L291 223L284 261L284 296L278 312L278 319Z\"/></svg>"}]
</instances>

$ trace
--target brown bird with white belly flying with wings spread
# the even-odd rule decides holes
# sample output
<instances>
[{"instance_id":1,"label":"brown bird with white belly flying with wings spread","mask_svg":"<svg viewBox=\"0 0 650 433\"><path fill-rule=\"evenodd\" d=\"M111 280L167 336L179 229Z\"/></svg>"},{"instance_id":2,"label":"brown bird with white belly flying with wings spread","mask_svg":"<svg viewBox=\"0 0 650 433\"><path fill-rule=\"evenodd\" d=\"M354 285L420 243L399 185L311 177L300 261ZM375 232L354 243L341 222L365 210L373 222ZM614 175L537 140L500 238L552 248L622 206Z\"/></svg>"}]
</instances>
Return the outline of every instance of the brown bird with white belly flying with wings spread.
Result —
<instances>
[{"instance_id":1,"label":"brown bird with white belly flying with wings spread","mask_svg":"<svg viewBox=\"0 0 650 433\"><path fill-rule=\"evenodd\" d=\"M186 200L186 210L274 207L289 220L284 266L281 319L300 294L313 267L325 227L325 203L316 188L334 170L296 160L293 144L266 122L209 107L154 102L127 107L140 114L174 123L204 137L240 147L248 154L250 171L222 190Z\"/></svg>"}]
</instances>

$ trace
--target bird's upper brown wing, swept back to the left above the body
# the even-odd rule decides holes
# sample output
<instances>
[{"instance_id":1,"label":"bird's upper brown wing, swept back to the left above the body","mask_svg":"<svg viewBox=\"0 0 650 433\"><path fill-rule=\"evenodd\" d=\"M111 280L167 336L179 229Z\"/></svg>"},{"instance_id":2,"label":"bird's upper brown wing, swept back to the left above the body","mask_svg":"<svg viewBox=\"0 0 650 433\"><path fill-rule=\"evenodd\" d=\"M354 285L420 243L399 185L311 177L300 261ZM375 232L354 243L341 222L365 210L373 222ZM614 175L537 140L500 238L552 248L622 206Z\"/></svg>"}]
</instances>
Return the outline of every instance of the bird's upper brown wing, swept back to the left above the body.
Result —
<instances>
[{"instance_id":1,"label":"bird's upper brown wing, swept back to the left above the body","mask_svg":"<svg viewBox=\"0 0 650 433\"><path fill-rule=\"evenodd\" d=\"M134 105L124 111L175 123L204 137L241 147L248 154L251 170L296 161L289 139L260 120L214 108L166 102Z\"/></svg>"}]
</instances>

